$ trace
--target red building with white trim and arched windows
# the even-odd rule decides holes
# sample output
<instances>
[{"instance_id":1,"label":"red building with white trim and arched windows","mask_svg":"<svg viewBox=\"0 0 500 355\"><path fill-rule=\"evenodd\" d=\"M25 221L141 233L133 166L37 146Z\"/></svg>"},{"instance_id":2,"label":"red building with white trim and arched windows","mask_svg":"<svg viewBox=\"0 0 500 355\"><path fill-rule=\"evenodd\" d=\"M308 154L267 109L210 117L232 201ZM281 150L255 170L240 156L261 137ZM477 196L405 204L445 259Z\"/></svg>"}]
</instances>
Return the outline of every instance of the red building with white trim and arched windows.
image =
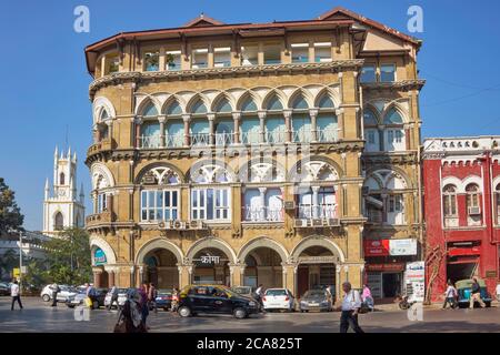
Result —
<instances>
[{"instance_id":1,"label":"red building with white trim and arched windows","mask_svg":"<svg viewBox=\"0 0 500 355\"><path fill-rule=\"evenodd\" d=\"M499 281L500 136L428 139L423 143L427 275L432 298L447 280Z\"/></svg>"}]
</instances>

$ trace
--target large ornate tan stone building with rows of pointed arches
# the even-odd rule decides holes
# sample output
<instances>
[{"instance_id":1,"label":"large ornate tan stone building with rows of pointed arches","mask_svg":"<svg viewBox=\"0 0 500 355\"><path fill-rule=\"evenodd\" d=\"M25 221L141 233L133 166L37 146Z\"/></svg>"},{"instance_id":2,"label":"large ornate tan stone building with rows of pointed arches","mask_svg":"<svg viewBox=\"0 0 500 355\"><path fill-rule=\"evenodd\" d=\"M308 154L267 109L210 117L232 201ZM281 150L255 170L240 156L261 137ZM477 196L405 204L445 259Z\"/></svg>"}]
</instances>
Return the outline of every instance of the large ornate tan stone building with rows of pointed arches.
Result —
<instances>
[{"instance_id":1,"label":"large ornate tan stone building with rows of pointed arches","mask_svg":"<svg viewBox=\"0 0 500 355\"><path fill-rule=\"evenodd\" d=\"M344 9L89 45L96 284L360 287L363 237L419 239L419 47Z\"/></svg>"}]
</instances>

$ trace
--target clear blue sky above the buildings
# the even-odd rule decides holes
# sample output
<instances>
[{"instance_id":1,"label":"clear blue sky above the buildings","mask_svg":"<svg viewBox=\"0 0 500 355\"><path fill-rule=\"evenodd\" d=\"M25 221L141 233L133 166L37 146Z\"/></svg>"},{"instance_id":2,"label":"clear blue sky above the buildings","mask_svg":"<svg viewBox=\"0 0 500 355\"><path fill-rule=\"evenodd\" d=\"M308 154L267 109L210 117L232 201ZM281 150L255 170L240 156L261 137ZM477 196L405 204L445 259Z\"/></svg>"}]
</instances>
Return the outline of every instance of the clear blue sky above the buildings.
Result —
<instances>
[{"instance_id":1,"label":"clear blue sky above the buildings","mask_svg":"<svg viewBox=\"0 0 500 355\"><path fill-rule=\"evenodd\" d=\"M90 33L73 31L73 9L90 9ZM88 213L91 105L83 48L121 31L178 27L200 12L223 22L312 19L337 6L407 31L407 10L423 9L420 77L423 136L500 134L498 0L129 0L9 1L0 6L0 176L14 189L26 227L41 230L43 184L56 145L79 156Z\"/></svg>"}]
</instances>

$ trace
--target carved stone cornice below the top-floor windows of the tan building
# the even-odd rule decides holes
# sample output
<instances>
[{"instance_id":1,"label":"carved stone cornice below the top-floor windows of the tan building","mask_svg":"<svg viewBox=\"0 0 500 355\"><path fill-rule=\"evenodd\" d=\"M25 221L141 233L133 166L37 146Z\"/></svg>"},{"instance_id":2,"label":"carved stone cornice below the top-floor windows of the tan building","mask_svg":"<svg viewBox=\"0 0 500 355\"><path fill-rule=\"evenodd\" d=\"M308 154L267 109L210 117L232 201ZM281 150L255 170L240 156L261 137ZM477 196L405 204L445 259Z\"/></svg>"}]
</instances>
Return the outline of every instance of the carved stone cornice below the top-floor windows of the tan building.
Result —
<instances>
[{"instance_id":1,"label":"carved stone cornice below the top-floor windows of the tan building","mask_svg":"<svg viewBox=\"0 0 500 355\"><path fill-rule=\"evenodd\" d=\"M362 67L363 59L336 60L328 63L292 63L292 64L272 64L272 65L240 65L229 68L208 68L180 71L154 71L154 72L119 72L106 75L94 80L89 85L89 95L93 99L96 92L104 87L119 85L126 82L158 82L174 80L207 80L220 79L236 75L254 74L301 74L304 72L342 72L357 70Z\"/></svg>"}]
</instances>

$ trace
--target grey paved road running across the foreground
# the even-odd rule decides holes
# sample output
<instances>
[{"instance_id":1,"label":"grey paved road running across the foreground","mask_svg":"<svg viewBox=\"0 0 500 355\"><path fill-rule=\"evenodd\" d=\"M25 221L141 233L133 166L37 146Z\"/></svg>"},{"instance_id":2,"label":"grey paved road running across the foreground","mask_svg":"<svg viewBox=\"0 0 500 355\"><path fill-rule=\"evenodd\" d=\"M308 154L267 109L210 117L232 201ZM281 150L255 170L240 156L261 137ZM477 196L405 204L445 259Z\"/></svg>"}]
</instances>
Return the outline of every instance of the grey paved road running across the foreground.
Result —
<instances>
[{"instance_id":1,"label":"grey paved road running across the foreground","mask_svg":"<svg viewBox=\"0 0 500 355\"><path fill-rule=\"evenodd\" d=\"M66 305L50 307L39 298L24 298L23 311L10 311L10 297L0 297L0 332L112 332L117 312L92 311L89 322L74 321ZM251 333L337 333L340 314L333 313L267 313L238 321L232 316L200 315L180 318L159 311L148 318L151 332L251 332ZM500 333L500 308L426 310L423 322L411 322L402 311L382 311L360 315L360 324L369 333L399 332L486 332Z\"/></svg>"}]
</instances>

